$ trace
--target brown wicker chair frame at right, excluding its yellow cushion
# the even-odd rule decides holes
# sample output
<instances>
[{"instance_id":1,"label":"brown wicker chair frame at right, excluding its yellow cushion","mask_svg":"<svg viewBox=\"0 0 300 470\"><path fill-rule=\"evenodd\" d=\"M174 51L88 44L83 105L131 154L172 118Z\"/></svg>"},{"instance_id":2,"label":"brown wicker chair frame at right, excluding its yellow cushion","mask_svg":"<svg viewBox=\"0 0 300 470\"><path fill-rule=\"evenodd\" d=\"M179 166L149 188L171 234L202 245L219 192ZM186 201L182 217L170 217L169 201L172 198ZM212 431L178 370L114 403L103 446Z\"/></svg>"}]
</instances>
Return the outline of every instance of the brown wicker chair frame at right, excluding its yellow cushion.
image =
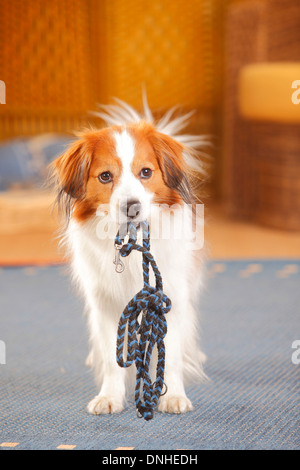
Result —
<instances>
[{"instance_id":1,"label":"brown wicker chair frame at right, excluding its yellow cushion","mask_svg":"<svg viewBox=\"0 0 300 470\"><path fill-rule=\"evenodd\" d=\"M243 114L239 95L241 74L248 64L280 63L283 68L290 62L299 64L300 4L289 0L233 3L225 37L222 192L226 209L234 217L300 230L300 106L298 122L292 117L281 122L271 110L269 118L251 117ZM289 93L291 97L291 87Z\"/></svg>"}]
</instances>

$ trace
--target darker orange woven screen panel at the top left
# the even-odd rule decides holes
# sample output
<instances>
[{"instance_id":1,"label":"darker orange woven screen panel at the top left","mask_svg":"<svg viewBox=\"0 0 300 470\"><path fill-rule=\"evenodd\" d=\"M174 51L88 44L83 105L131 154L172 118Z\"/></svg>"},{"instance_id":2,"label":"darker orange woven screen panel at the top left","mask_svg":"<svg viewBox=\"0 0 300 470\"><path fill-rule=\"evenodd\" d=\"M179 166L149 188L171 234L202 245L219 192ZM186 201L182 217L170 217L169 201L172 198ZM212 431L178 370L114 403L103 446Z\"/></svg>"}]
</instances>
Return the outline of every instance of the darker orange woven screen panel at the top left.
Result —
<instances>
[{"instance_id":1,"label":"darker orange woven screen panel at the top left","mask_svg":"<svg viewBox=\"0 0 300 470\"><path fill-rule=\"evenodd\" d=\"M63 133L86 122L95 97L90 0L0 0L0 139Z\"/></svg>"}]
</instances>

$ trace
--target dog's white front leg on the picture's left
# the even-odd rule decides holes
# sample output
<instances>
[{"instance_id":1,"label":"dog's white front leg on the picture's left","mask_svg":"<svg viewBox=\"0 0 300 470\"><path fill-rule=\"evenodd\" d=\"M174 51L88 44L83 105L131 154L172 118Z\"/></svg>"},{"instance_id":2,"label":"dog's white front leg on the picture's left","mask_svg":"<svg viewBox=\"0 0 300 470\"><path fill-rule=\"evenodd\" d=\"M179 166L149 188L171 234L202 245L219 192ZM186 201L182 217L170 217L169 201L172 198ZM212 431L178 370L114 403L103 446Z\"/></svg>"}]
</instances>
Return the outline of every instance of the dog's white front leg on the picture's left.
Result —
<instances>
[{"instance_id":1,"label":"dog's white front leg on the picture's left","mask_svg":"<svg viewBox=\"0 0 300 470\"><path fill-rule=\"evenodd\" d=\"M91 414L118 413L125 402L125 372L116 362L117 325L113 316L91 312L89 318L95 379L99 394L88 404ZM100 334L101 333L101 334Z\"/></svg>"}]
</instances>

